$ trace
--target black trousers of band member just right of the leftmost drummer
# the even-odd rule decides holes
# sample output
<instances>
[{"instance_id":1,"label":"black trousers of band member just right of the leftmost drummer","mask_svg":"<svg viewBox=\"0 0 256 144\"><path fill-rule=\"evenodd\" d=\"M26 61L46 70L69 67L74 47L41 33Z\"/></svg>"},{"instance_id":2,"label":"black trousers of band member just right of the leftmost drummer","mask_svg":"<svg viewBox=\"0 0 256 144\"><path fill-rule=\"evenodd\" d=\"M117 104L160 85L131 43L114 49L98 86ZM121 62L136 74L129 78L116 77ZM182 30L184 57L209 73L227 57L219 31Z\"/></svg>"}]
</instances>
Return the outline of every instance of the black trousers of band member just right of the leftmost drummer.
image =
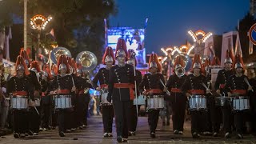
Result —
<instances>
[{"instance_id":1,"label":"black trousers of band member just right of the leftmost drummer","mask_svg":"<svg viewBox=\"0 0 256 144\"><path fill-rule=\"evenodd\" d=\"M40 126L40 111L41 111L41 106L36 106L37 111L34 109L34 107L30 107L29 110L29 129L31 131L33 131L34 133L38 133L39 132L39 126Z\"/></svg>"}]
</instances>

